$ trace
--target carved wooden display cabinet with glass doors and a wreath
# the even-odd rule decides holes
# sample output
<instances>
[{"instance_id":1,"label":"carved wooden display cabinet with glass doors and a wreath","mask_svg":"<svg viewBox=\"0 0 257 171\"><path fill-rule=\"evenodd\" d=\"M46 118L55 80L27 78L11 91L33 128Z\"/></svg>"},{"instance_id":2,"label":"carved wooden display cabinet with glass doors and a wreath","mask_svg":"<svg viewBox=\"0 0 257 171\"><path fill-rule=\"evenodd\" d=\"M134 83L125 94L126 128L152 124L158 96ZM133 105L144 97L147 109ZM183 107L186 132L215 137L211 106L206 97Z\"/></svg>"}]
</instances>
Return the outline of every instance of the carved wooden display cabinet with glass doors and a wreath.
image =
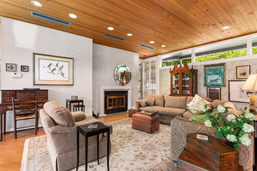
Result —
<instances>
[{"instance_id":1,"label":"carved wooden display cabinet with glass doors and a wreath","mask_svg":"<svg viewBox=\"0 0 257 171\"><path fill-rule=\"evenodd\" d=\"M197 70L188 68L187 64L183 67L174 65L170 69L170 96L195 96L197 93Z\"/></svg>"}]
</instances>

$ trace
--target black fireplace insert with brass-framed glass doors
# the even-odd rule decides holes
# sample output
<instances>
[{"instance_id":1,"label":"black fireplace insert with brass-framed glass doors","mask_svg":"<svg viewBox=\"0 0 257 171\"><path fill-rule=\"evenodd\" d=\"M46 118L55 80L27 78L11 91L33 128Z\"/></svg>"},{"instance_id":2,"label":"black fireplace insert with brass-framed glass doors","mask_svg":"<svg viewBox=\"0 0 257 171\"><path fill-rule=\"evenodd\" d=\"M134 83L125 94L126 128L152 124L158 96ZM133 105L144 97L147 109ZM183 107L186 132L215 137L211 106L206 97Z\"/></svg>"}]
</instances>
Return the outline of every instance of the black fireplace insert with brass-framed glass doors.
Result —
<instances>
[{"instance_id":1,"label":"black fireplace insert with brass-framed glass doors","mask_svg":"<svg viewBox=\"0 0 257 171\"><path fill-rule=\"evenodd\" d=\"M104 114L128 110L128 91L104 91Z\"/></svg>"}]
</instances>

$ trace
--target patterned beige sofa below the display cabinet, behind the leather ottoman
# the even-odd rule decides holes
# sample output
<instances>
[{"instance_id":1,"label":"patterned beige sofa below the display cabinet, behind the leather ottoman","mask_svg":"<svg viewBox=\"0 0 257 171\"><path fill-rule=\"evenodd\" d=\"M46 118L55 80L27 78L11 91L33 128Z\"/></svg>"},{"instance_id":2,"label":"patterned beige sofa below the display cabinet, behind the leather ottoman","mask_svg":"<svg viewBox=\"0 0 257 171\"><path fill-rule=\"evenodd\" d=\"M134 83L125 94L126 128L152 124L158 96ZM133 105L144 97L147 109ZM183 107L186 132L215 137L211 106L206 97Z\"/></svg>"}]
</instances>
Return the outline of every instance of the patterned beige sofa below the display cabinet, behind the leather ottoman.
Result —
<instances>
[{"instance_id":1,"label":"patterned beige sofa below the display cabinet, behind the leather ottoman","mask_svg":"<svg viewBox=\"0 0 257 171\"><path fill-rule=\"evenodd\" d=\"M140 102L144 100L136 100L136 110L146 110L157 112L160 119L160 123L170 124L170 121L176 116L183 117L184 113L187 116L192 115L190 111L188 112L187 105L193 100L193 97L179 97L179 96L168 96L164 99L163 94L152 95L148 94L155 99L153 106L142 107ZM147 98L146 97L146 98ZM206 101L210 102L209 98L204 98Z\"/></svg>"}]
</instances>

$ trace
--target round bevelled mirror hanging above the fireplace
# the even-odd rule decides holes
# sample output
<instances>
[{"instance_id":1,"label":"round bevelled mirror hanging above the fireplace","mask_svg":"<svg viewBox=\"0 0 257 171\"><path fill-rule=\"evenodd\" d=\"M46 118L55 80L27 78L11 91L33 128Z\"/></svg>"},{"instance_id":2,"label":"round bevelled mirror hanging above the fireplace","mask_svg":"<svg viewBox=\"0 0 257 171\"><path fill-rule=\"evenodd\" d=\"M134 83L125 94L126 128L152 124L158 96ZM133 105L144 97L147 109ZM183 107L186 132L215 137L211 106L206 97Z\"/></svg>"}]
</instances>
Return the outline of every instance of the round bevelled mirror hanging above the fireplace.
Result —
<instances>
[{"instance_id":1,"label":"round bevelled mirror hanging above the fireplace","mask_svg":"<svg viewBox=\"0 0 257 171\"><path fill-rule=\"evenodd\" d=\"M114 79L117 84L125 86L130 82L131 71L127 65L118 65L114 70Z\"/></svg>"}]
</instances>

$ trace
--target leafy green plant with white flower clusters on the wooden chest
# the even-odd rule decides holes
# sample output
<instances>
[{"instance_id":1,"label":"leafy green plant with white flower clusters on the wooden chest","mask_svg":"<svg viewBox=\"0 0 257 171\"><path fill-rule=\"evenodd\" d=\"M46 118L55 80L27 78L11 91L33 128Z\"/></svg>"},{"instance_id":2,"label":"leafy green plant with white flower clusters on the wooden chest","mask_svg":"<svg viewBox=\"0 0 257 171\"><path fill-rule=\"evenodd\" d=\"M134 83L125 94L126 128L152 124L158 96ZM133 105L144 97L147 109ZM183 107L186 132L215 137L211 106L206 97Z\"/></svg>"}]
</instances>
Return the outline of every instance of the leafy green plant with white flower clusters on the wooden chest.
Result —
<instances>
[{"instance_id":1,"label":"leafy green plant with white flower clusters on the wooden chest","mask_svg":"<svg viewBox=\"0 0 257 171\"><path fill-rule=\"evenodd\" d=\"M207 105L204 105L207 108ZM248 134L254 131L253 124L254 116L253 112L249 112L247 107L241 110L241 115L235 116L229 114L224 118L224 114L228 112L228 109L222 105L214 107L218 110L216 113L205 113L208 118L213 118L214 122L206 120L204 122L207 127L214 127L217 129L217 136L224 137L226 143L233 145L235 149L239 149L238 143L242 143L246 146L251 144L251 139L248 138ZM219 119L215 119L214 115L217 115ZM250 124L249 124L250 123Z\"/></svg>"}]
</instances>

